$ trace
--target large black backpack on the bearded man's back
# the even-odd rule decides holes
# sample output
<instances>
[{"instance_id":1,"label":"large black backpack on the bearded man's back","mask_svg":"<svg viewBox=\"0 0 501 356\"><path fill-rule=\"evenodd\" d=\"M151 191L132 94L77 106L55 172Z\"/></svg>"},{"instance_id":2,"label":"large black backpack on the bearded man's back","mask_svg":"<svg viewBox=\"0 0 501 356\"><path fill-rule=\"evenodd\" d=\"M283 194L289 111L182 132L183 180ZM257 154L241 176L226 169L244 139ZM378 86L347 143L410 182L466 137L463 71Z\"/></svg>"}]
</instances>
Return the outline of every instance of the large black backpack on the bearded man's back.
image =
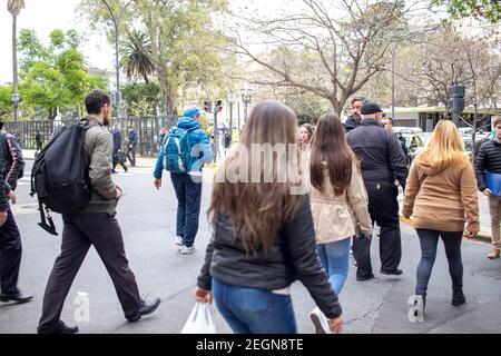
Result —
<instances>
[{"instance_id":1,"label":"large black backpack on the bearded man's back","mask_svg":"<svg viewBox=\"0 0 501 356\"><path fill-rule=\"evenodd\" d=\"M90 127L92 125L86 120L60 127L33 164L31 196L38 196L39 226L51 235L58 234L49 210L72 214L84 208L90 199L89 167L84 146L85 134Z\"/></svg>"}]
</instances>

